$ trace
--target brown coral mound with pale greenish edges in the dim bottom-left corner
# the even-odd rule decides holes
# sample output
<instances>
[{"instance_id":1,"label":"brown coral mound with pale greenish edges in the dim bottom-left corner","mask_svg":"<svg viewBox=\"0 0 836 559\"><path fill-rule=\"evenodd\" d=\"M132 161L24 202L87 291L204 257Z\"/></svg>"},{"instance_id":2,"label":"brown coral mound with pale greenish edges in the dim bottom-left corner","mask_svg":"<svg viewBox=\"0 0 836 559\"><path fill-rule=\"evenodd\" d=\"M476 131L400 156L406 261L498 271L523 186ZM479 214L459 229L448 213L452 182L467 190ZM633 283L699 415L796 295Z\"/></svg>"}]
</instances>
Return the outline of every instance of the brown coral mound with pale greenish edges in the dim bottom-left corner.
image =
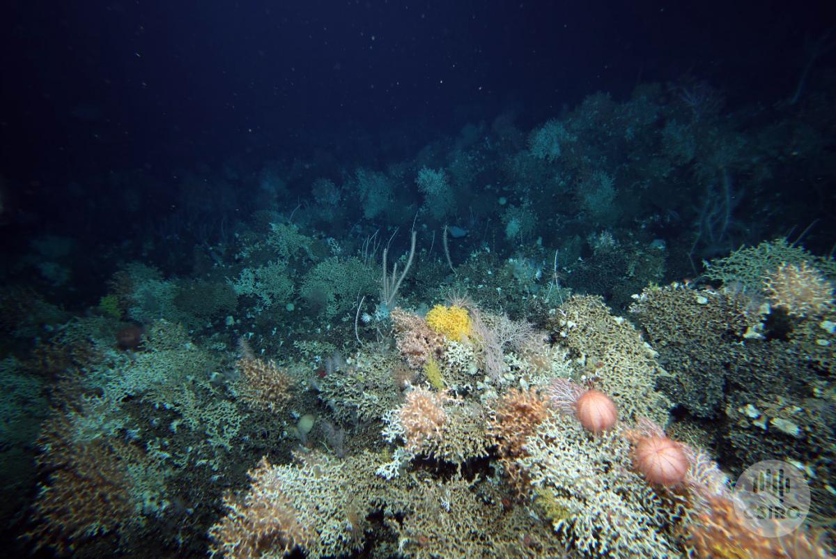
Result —
<instances>
[{"instance_id":1,"label":"brown coral mound with pale greenish edges in the dim bottom-left corner","mask_svg":"<svg viewBox=\"0 0 836 559\"><path fill-rule=\"evenodd\" d=\"M81 397L43 424L37 463L49 479L27 534L36 547L89 554L79 546L104 534L121 540L164 500L170 470L125 441L119 413L100 397Z\"/></svg>"}]
</instances>

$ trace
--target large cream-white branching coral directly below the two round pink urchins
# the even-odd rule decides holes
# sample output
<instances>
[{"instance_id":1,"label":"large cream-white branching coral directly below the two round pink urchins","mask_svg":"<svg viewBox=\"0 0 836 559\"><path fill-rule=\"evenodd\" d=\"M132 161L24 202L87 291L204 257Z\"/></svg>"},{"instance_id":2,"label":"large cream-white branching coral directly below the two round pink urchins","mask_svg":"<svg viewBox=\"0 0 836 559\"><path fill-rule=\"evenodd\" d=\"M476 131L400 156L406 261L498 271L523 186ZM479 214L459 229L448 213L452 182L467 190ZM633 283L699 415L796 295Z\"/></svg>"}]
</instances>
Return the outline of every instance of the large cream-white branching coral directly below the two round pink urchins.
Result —
<instances>
[{"instance_id":1,"label":"large cream-white branching coral directly below the two round pink urchins","mask_svg":"<svg viewBox=\"0 0 836 559\"><path fill-rule=\"evenodd\" d=\"M624 424L593 436L553 411L517 459L563 543L583 557L680 556L681 506L633 471Z\"/></svg>"}]
</instances>

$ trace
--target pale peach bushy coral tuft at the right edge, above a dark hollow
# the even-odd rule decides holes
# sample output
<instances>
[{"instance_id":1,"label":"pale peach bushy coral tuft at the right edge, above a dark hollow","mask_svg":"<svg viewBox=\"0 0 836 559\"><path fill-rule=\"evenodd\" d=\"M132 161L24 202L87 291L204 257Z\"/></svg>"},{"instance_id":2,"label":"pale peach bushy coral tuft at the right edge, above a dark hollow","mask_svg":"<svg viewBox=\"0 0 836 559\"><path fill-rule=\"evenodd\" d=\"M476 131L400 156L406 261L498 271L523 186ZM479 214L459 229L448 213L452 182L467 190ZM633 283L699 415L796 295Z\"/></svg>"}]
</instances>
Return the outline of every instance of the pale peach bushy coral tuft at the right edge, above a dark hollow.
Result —
<instances>
[{"instance_id":1,"label":"pale peach bushy coral tuft at the right edge, above a dark hollow","mask_svg":"<svg viewBox=\"0 0 836 559\"><path fill-rule=\"evenodd\" d=\"M819 315L833 305L833 285L807 261L781 264L764 276L763 288L772 306L792 316Z\"/></svg>"}]
</instances>

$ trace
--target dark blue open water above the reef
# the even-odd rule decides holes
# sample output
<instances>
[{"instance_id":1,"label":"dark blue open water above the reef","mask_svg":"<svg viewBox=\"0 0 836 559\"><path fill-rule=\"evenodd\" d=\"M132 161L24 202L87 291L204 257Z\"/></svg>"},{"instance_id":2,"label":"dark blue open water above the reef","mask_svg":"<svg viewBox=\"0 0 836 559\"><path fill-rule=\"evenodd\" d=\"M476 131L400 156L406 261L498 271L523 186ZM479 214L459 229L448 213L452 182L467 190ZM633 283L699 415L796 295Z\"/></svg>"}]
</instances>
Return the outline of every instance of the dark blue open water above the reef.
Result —
<instances>
[{"instance_id":1,"label":"dark blue open water above the reef","mask_svg":"<svg viewBox=\"0 0 836 559\"><path fill-rule=\"evenodd\" d=\"M828 43L826 6L12 3L3 219L21 233L130 241L176 203L176 169L236 161L247 175L327 146L334 175L507 111L529 130L586 95L624 100L642 83L704 82L724 111L767 111L793 97L810 44ZM832 62L833 49L818 56L803 96L827 89ZM156 183L137 189L133 214L100 184L125 170ZM115 222L101 223L103 207Z\"/></svg>"}]
</instances>

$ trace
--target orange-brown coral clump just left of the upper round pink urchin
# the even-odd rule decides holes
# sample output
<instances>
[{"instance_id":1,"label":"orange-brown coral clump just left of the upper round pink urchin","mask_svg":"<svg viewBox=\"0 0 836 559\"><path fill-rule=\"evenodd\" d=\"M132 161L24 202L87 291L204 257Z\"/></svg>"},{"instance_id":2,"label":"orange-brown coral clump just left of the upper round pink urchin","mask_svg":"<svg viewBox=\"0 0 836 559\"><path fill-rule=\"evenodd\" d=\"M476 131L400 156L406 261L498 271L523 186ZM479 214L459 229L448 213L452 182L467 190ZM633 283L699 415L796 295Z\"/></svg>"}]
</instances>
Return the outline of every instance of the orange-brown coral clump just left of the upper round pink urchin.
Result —
<instances>
[{"instance_id":1,"label":"orange-brown coral clump just left of the upper round pink urchin","mask_svg":"<svg viewBox=\"0 0 836 559\"><path fill-rule=\"evenodd\" d=\"M528 479L516 460L526 454L526 438L548 417L548 401L532 388L512 389L499 398L493 407L488 426L493 444L497 445L500 462L518 490L528 486Z\"/></svg>"}]
</instances>

